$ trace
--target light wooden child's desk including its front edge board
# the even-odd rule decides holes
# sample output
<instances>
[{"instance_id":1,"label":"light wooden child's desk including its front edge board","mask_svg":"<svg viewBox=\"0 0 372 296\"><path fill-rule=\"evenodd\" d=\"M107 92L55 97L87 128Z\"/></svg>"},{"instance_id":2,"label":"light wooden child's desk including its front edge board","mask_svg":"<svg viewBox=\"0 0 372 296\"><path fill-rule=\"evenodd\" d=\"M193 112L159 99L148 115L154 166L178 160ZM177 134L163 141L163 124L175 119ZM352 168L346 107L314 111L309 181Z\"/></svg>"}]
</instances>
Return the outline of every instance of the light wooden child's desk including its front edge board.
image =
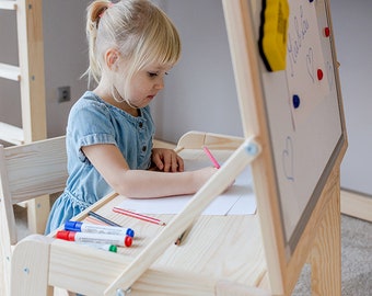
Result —
<instances>
[{"instance_id":1,"label":"light wooden child's desk including its front edge board","mask_svg":"<svg viewBox=\"0 0 372 296\"><path fill-rule=\"evenodd\" d=\"M222 146L224 150L218 151L216 156L224 161L231 155L231 148L241 143L240 138L225 141ZM198 143L194 145L201 147ZM193 159L200 156L200 149L186 149L179 153L184 159ZM113 207L124 198L111 194L77 219L84 220L89 210L95 210L135 229L136 238L130 248L119 248L118 254L115 254L50 237L32 236L18 246L13 255L13 271L18 273L18 283L23 283L13 285L13 295L24 295L26 292L28 295L47 295L48 285L85 295L103 295L120 272L164 229L114 213ZM170 223L174 215L153 216ZM179 235L174 232L173 241ZM34 270L36 266L37 273ZM18 269L21 269L20 272ZM200 216L183 244L171 243L132 285L131 295L214 295L219 289L217 287L220 285L222 293L229 286L228 282L242 284L242 287L235 288L243 288L244 285L244 292L252 292L251 295L264 295L260 291L260 294L256 294L255 287L265 285L265 274L266 262L257 215Z\"/></svg>"}]
</instances>

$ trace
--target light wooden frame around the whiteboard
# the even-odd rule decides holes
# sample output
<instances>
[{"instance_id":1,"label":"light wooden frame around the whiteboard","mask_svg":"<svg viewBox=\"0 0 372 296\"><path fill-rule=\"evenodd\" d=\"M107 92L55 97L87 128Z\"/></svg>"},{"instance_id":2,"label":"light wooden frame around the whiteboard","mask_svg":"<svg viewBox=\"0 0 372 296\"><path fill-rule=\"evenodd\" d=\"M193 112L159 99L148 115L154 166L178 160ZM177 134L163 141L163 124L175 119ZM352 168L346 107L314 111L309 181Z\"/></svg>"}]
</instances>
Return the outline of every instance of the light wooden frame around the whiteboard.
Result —
<instances>
[{"instance_id":1,"label":"light wooden frame around the whiteboard","mask_svg":"<svg viewBox=\"0 0 372 296\"><path fill-rule=\"evenodd\" d=\"M329 175L334 172L335 168L337 169L337 167L339 167L347 148L347 134L335 41L333 35L330 35L341 135L333 149L330 158L325 164L325 170L310 197L310 202L292 237L286 241L282 208L280 206L277 173L272 156L272 144L268 127L268 114L265 105L261 71L263 69L266 70L266 68L263 67L263 61L258 53L258 38L253 21L253 11L256 9L255 5L260 5L260 1L223 0L222 3L244 136L245 138L252 135L257 136L263 147L261 156L252 163L252 172L271 292L282 294L288 287L286 274L288 271L295 270L295 266L293 266L295 263L292 264L291 262L302 262L304 260L298 258L298 253L302 252L298 250L298 247L300 240L303 238L303 230L312 216L314 216L313 209L315 206L325 203L326 196L323 195L326 194L323 194L323 191L326 184L330 183L328 182L330 181ZM324 3L329 29L330 32L333 32L329 1L324 0ZM316 213L316 215L318 214ZM317 220L317 218L318 217L313 217L313 220ZM293 258L294 253L297 258Z\"/></svg>"}]
</instances>

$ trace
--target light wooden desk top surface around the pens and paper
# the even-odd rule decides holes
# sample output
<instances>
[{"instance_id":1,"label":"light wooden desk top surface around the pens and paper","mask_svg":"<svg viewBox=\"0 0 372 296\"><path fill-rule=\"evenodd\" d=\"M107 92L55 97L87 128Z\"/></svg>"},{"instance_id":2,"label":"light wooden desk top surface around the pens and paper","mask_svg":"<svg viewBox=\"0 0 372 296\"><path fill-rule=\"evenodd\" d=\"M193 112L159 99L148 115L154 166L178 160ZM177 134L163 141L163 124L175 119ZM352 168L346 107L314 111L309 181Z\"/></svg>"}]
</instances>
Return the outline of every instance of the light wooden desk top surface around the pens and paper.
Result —
<instances>
[{"instance_id":1,"label":"light wooden desk top surface around the pens and paper","mask_svg":"<svg viewBox=\"0 0 372 296\"><path fill-rule=\"evenodd\" d=\"M224 161L231 150L213 150L219 161ZM179 152L184 159L206 156L200 149ZM205 160L205 159L204 159ZM142 221L113 212L126 197L113 193L94 209L97 214L136 231L130 248L119 248L118 253L133 260L141 250L161 232L163 226ZM172 198L172 197L170 197ZM86 218L85 212L82 219ZM151 215L165 223L174 215ZM179 234L182 235L182 234ZM182 271L228 278L247 286L258 286L266 273L261 231L257 215L200 216L181 246L170 246L153 264L154 269L172 266Z\"/></svg>"}]
</instances>

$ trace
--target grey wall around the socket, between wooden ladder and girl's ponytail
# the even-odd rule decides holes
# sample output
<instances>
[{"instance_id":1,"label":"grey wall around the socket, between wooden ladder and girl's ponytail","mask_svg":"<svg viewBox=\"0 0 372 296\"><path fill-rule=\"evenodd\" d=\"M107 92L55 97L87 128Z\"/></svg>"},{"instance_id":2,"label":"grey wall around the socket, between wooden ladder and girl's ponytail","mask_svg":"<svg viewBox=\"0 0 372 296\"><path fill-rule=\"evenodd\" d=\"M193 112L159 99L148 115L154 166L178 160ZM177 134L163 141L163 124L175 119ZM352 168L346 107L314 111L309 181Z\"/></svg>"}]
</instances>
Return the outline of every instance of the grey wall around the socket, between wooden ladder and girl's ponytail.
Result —
<instances>
[{"instance_id":1,"label":"grey wall around the socket, between wooden ladder and girl's ponytail","mask_svg":"<svg viewBox=\"0 0 372 296\"><path fill-rule=\"evenodd\" d=\"M44 0L45 87L48 136L63 135L72 104L86 90L85 9L89 0ZM57 88L70 86L70 102L58 103Z\"/></svg>"}]
</instances>

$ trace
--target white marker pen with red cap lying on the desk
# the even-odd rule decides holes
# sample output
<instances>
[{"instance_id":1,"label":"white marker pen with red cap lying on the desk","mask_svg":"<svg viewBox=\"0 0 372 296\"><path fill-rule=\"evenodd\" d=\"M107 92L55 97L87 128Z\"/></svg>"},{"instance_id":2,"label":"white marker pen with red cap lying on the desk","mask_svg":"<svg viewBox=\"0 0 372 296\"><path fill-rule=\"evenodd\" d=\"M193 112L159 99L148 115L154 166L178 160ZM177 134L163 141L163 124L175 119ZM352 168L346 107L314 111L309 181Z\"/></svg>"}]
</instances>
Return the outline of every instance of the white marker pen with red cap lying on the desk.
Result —
<instances>
[{"instance_id":1,"label":"white marker pen with red cap lying on the desk","mask_svg":"<svg viewBox=\"0 0 372 296\"><path fill-rule=\"evenodd\" d=\"M129 236L116 236L106 234L91 234L60 230L57 232L57 238L69 241L84 242L84 243L102 243L115 244L121 247L130 247L132 238Z\"/></svg>"}]
</instances>

